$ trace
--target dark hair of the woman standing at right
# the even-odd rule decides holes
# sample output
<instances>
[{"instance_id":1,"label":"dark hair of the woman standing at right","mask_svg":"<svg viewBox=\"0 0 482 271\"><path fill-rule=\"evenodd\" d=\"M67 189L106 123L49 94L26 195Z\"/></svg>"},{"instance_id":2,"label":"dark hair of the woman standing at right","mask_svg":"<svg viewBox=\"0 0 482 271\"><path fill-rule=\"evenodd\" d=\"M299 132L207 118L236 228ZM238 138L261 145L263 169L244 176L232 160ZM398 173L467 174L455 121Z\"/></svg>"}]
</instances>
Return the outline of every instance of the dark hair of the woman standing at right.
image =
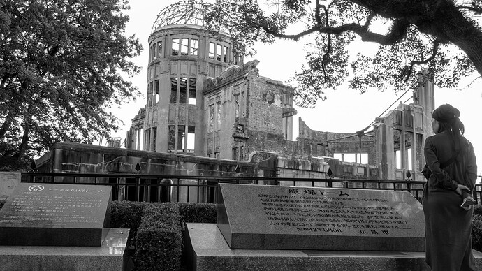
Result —
<instances>
[{"instance_id":1,"label":"dark hair of the woman standing at right","mask_svg":"<svg viewBox=\"0 0 482 271\"><path fill-rule=\"evenodd\" d=\"M446 131L450 133L454 143L453 148L455 150L460 149L460 142L462 142L462 136L465 132L465 126L459 119L460 111L446 103L435 109L432 117L439 122L439 131L437 132Z\"/></svg>"}]
</instances>

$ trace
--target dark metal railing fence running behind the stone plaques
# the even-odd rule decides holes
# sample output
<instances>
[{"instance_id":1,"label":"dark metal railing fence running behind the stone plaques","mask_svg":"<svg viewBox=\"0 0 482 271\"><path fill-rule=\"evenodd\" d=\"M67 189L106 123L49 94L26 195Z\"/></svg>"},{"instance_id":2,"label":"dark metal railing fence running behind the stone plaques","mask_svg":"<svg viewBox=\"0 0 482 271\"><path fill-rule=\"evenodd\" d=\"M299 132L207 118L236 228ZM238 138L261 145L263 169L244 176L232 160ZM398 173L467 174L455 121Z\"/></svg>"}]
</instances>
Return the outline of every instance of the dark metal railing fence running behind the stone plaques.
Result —
<instances>
[{"instance_id":1,"label":"dark metal railing fence running behind the stone plaques","mask_svg":"<svg viewBox=\"0 0 482 271\"><path fill-rule=\"evenodd\" d=\"M185 175L133 175L98 173L22 173L21 182L112 186L112 200L147 202L217 203L217 184L268 184L349 189L409 191L421 201L425 182L412 180L311 179L282 177L206 177ZM474 198L481 198L476 184Z\"/></svg>"}]
</instances>

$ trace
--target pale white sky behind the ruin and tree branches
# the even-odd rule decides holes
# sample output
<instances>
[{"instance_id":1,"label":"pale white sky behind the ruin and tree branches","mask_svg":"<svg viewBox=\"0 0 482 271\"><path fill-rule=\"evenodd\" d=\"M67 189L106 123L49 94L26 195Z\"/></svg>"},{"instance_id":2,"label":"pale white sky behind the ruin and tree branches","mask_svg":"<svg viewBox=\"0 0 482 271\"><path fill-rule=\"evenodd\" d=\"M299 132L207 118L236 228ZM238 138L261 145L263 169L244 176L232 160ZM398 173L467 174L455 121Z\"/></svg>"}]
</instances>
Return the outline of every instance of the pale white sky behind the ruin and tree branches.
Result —
<instances>
[{"instance_id":1,"label":"pale white sky behind the ruin and tree branches","mask_svg":"<svg viewBox=\"0 0 482 271\"><path fill-rule=\"evenodd\" d=\"M147 53L149 47L147 39L151 34L152 24L154 24L157 15L163 8L176 2L177 0L130 1L131 10L126 13L129 15L130 20L126 25L125 34L127 36L136 34L144 50L138 57L132 59L138 66L143 67L142 71L129 79L133 82L133 85L139 87L143 94L147 91ZM286 82L295 71L300 71L300 65L305 61L303 45L302 40L298 42L279 40L272 45L259 43L255 46L256 55L251 58L245 58L244 63L257 59L260 61L257 68L261 76ZM371 43L361 43L359 49L370 52L370 50L376 49L375 46ZM460 110L460 119L465 124L465 137L474 145L477 161L479 161L478 172L481 173L482 80L479 78L470 87L465 87L475 77L476 75L472 75L472 78L462 82L458 89L439 89L436 86L435 107L437 108L437 106L444 103L450 103ZM298 135L298 117L301 117L307 126L313 130L355 133L371 124L402 93L395 93L395 91L381 92L374 89L365 94L359 94L355 89L342 87L335 91L328 90L325 94L327 96L326 101L319 101L315 108L296 108L298 114L294 116L293 130L295 135L293 140ZM409 96L409 94L406 94L400 101L407 101ZM400 103L400 101L397 103ZM129 101L129 103L122 105L120 108L112 108L112 112L124 122L121 129L112 136L118 137L121 139L121 142L124 142L126 131L129 130L131 125L131 119L136 116L140 108L145 106L145 103L145 98L138 97L136 101ZM397 103L390 110L395 109ZM407 104L409 103L411 103L411 99L407 101Z\"/></svg>"}]
</instances>

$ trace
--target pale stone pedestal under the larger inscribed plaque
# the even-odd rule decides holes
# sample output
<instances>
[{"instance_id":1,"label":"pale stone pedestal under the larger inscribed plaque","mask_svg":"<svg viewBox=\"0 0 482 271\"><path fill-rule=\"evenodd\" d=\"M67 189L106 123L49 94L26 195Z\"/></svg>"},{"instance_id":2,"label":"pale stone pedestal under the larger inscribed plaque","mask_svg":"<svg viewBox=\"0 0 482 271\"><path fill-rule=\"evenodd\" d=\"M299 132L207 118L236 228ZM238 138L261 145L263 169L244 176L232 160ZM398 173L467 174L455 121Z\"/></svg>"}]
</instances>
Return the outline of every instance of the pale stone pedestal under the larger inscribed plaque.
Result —
<instances>
[{"instance_id":1,"label":"pale stone pedestal under the larger inscribed plaque","mask_svg":"<svg viewBox=\"0 0 482 271\"><path fill-rule=\"evenodd\" d=\"M430 270L423 251L230 249L216 224L187 224L190 270ZM482 254L474 251L477 270Z\"/></svg>"}]
</instances>

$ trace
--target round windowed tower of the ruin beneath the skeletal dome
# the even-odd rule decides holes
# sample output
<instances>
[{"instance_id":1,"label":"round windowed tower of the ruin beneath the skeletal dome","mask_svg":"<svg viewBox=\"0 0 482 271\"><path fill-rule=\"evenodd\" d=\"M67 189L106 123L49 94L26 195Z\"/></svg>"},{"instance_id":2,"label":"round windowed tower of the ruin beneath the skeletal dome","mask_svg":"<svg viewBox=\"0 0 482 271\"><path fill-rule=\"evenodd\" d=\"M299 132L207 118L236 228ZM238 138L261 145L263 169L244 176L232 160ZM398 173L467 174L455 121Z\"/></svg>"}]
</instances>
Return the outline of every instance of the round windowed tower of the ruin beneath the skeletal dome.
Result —
<instances>
[{"instance_id":1,"label":"round windowed tower of the ruin beneath the skeletal dome","mask_svg":"<svg viewBox=\"0 0 482 271\"><path fill-rule=\"evenodd\" d=\"M133 119L127 147L205 155L204 86L242 64L230 38L196 25L167 25L149 36L147 104Z\"/></svg>"}]
</instances>

